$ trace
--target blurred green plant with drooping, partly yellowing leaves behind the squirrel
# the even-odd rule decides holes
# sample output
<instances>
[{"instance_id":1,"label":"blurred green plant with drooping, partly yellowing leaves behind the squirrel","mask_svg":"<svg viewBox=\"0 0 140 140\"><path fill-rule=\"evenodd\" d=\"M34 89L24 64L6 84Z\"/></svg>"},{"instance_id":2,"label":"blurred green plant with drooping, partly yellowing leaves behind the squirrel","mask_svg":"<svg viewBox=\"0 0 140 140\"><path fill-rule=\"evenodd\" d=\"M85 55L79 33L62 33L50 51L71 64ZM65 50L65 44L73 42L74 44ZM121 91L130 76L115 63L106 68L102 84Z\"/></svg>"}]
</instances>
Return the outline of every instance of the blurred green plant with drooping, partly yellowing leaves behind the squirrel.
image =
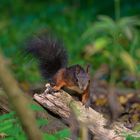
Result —
<instances>
[{"instance_id":1,"label":"blurred green plant with drooping, partly yellowing leaves behind the squirrel","mask_svg":"<svg viewBox=\"0 0 140 140\"><path fill-rule=\"evenodd\" d=\"M99 16L82 35L85 44L85 58L98 67L102 63L109 64L112 78L114 73L125 72L133 75L139 73L140 34L137 27L140 20L136 17L123 17L114 21L108 16ZM122 76L122 75L119 75Z\"/></svg>"}]
</instances>

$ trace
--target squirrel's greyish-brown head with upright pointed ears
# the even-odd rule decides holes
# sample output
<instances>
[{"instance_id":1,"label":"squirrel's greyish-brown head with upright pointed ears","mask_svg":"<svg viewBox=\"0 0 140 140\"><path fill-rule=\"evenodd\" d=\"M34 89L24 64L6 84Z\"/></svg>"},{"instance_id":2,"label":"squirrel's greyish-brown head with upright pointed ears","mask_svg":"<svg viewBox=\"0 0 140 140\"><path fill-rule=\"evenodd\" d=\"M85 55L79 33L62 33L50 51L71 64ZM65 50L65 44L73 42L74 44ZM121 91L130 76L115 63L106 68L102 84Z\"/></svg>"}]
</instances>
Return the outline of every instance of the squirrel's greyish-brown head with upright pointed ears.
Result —
<instances>
[{"instance_id":1,"label":"squirrel's greyish-brown head with upright pointed ears","mask_svg":"<svg viewBox=\"0 0 140 140\"><path fill-rule=\"evenodd\" d=\"M86 90L90 83L89 65L84 70L81 66L76 67L76 82L81 90Z\"/></svg>"}]
</instances>

